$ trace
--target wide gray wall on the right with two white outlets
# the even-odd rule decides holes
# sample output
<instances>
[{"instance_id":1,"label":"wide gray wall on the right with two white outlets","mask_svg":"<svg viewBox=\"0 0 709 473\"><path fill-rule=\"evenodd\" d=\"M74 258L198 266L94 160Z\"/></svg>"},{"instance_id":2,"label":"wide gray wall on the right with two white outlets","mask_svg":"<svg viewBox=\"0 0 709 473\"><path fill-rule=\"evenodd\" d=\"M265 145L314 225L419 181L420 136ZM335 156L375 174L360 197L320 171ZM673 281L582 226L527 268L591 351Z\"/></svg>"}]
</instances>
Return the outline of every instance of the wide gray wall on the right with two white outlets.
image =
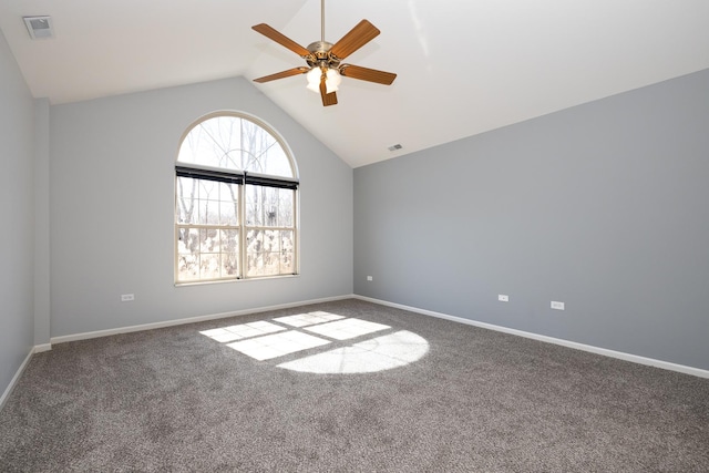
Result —
<instances>
[{"instance_id":1,"label":"wide gray wall on the right with two white outlets","mask_svg":"<svg viewBox=\"0 0 709 473\"><path fill-rule=\"evenodd\" d=\"M354 261L358 295L709 369L709 71L354 169Z\"/></svg>"}]
</instances>

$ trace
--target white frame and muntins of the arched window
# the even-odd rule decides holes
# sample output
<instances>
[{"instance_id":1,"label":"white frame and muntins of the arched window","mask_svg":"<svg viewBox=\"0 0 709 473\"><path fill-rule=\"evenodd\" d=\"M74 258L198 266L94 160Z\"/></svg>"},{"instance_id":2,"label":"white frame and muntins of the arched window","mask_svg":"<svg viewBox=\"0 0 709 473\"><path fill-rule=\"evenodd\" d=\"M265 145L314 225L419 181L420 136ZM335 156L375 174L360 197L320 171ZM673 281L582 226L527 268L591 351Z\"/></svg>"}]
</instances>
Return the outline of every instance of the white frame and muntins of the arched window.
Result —
<instances>
[{"instance_id":1,"label":"white frame and muntins of the arched window","mask_svg":"<svg viewBox=\"0 0 709 473\"><path fill-rule=\"evenodd\" d=\"M245 120L248 122L251 122L251 124L258 126L259 128L261 128L263 132L267 133L268 135L270 135L276 143L280 146L285 158L288 162L288 165L290 166L290 172L292 177L286 177L286 176L280 176L280 175L269 175L269 174L260 174L260 173L255 173L255 172L249 172L249 171L245 171L245 169L232 169L232 168L226 168L226 167L214 167L214 166L207 166L207 165L203 165L203 164L195 164L195 163L188 163L188 162L183 162L179 161L179 151L182 150L182 146L185 142L185 140L187 138L187 136L197 127L199 126L202 123L208 121L208 120L213 120L213 119L218 119L218 117L233 117L233 119L237 119L237 120ZM248 150L240 150L240 152L246 152L249 153L250 152ZM248 113L244 113L244 112L236 112L236 111L218 111L218 112L214 112L214 113L209 113L207 115L204 115L199 119L197 119L196 121L194 121L193 123L189 124L189 126L185 130L185 132L183 133L179 142L178 142L178 151L177 151L177 157L175 160L175 167L174 167L174 203L173 203L173 220L174 220L174 260L173 260L173 268L174 268L174 284L175 286L193 286L193 285L203 285L203 284L215 284L215 282L233 282L233 281L245 281L245 280L257 280L257 279L273 279L273 278L284 278L284 277L294 277L294 276L298 276L300 274L300 225L299 225L299 214L300 214L300 192L299 192L299 187L300 187L300 182L298 178L298 167L297 167L297 163L296 160L292 155L292 152L290 150L290 147L287 145L287 143L285 142L285 140L282 138L282 136L280 136L279 133L277 133L274 127L271 127L270 125L268 125L267 123L265 123L263 120L259 120ZM213 182L217 182L217 183L229 183L229 184L234 184L237 186L238 189L238 196L237 196L237 208L238 208L238 215L237 215L237 223L235 225L223 225L222 222L219 222L218 224L207 224L207 223L181 223L179 222L179 216L181 216L181 208L179 208L179 195L178 195L178 179L181 177L188 177L188 178L194 178L197 179L197 185L198 185L198 181L213 181ZM258 223L249 223L248 222L248 215L247 214L247 189L249 189L249 186L260 186L264 188L277 188L277 192L281 192L280 189L285 189L285 191L292 191L292 203L291 203L291 210L292 210L292 219L291 219L291 226L273 226L273 225L266 225L266 222L263 222L260 225ZM201 199L197 197L196 202L198 203ZM217 278L201 278L199 275L197 275L196 279L189 279L189 280L181 280L179 276L181 276L181 256L184 256L184 254L181 254L179 251L179 236L181 236L181 230L183 229L197 229L197 230L202 230L202 229L212 229L212 230L217 230L217 232L222 232L222 230L236 230L238 232L238 251L237 251L237 275L236 276L220 276ZM292 268L291 271L288 273L281 273L280 270L277 274L270 274L270 275L251 275L249 276L249 256L253 256L254 253L249 251L248 248L248 240L249 240L249 234L251 234L253 232L288 232L291 233L292 238L292 249L290 250L291 254L291 265L289 265L289 267ZM278 238L282 238L282 235L278 235ZM279 243L279 246L281 241ZM279 258L279 265L282 263L280 261L280 258L286 257L286 253L284 251L282 248L279 248L278 251L280 253L280 255L278 256ZM199 251L199 255L202 255L203 251ZM222 249L219 249L219 255L225 255L227 253L222 251ZM201 267L201 264L198 264ZM220 265L222 266L222 265Z\"/></svg>"}]
</instances>

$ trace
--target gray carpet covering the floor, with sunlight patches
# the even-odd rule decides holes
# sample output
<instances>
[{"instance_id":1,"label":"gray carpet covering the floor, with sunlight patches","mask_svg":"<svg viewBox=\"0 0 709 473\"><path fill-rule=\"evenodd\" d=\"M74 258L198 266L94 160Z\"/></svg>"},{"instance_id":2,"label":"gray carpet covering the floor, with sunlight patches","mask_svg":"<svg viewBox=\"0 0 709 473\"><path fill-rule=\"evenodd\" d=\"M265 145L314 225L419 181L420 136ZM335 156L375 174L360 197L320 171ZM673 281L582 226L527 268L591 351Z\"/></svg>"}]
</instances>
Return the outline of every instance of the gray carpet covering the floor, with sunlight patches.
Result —
<instances>
[{"instance_id":1,"label":"gray carpet covering the floor, with sunlight patches","mask_svg":"<svg viewBox=\"0 0 709 473\"><path fill-rule=\"evenodd\" d=\"M201 333L314 311L387 328L261 361ZM428 352L374 371L402 330ZM279 367L353 346L373 372ZM709 380L343 300L38 353L0 471L708 472Z\"/></svg>"}]
</instances>

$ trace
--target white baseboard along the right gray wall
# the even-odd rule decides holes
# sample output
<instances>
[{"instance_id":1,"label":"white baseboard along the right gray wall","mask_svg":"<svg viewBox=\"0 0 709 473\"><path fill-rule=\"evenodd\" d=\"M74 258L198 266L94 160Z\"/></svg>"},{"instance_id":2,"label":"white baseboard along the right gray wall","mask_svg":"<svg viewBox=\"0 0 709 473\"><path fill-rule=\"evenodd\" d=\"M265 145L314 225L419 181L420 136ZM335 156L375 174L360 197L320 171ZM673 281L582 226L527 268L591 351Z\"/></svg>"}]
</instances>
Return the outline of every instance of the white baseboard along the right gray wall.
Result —
<instances>
[{"instance_id":1,"label":"white baseboard along the right gray wall","mask_svg":"<svg viewBox=\"0 0 709 473\"><path fill-rule=\"evenodd\" d=\"M484 329L501 331L505 333L516 335L518 337L531 338L533 340L545 341L547 343L559 345L562 347L574 348L576 350L588 351L590 353L603 354L605 357L617 358L625 361L631 361L634 363L646 364L655 368L661 368L665 370L677 371L685 374L691 374L699 378L709 378L709 370L702 370L700 368L687 367L684 364L670 363L669 361L656 360L654 358L639 357L637 354L625 353L623 351L608 350L606 348L594 347L592 345L577 343L575 341L568 341L561 338L547 337L544 335L527 332L523 330L511 329L507 327L495 326L493 323L479 322L462 317L449 316L448 313L434 312L432 310L419 309L417 307L404 306L401 304L388 302L386 300L373 299L364 296L353 296L356 299L366 300L373 304L380 304L382 306L393 307L397 309L409 310L410 312L417 312L424 316L436 317L440 319L452 320L454 322L465 323L469 326L481 327Z\"/></svg>"}]
</instances>

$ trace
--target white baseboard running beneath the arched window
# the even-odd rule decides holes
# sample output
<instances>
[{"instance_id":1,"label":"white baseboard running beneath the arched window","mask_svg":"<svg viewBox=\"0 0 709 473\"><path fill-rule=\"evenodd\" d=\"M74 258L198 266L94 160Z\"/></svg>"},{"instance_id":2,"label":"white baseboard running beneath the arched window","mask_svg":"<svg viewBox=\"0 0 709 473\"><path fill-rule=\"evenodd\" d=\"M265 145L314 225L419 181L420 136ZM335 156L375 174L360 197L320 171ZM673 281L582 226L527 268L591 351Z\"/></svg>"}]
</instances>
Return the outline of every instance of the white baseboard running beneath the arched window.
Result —
<instances>
[{"instance_id":1,"label":"white baseboard running beneath the arched window","mask_svg":"<svg viewBox=\"0 0 709 473\"><path fill-rule=\"evenodd\" d=\"M153 323L142 323L140 326L120 327L120 328L115 328L115 329L97 330L97 331L91 331L91 332L66 335L66 336L61 336L61 337L52 337L50 339L50 341L51 341L51 343L64 343L64 342L68 342L68 341L88 340L88 339L91 339L91 338L109 337L109 336L119 335L119 333L129 333L129 332L134 332L134 331L160 329L160 328L164 328L164 327L181 326L181 325L185 325L185 323L204 322L206 320L225 319L225 318L228 318L228 317L238 317L238 316L246 316L246 315L249 315L249 313L267 312L269 310L288 309L288 308L291 308L291 307L307 306L307 305L310 305L310 304L320 304L320 302L330 302L330 301L333 301L333 300L352 299L353 297L354 297L353 295L349 294L349 295L346 295L346 296L326 297L326 298L322 298L322 299L312 299L312 300L301 300L301 301L298 301L298 302L288 302L288 304L280 304L280 305L277 305L277 306L258 307L258 308L254 308L254 309L243 309L243 310L237 310L237 311L232 311L232 312L223 312L223 313L213 313L213 315L207 315L207 316L189 317L189 318L186 318L186 319L166 320L166 321L163 321L163 322L153 322ZM50 347L51 347L51 345L50 345Z\"/></svg>"}]
</instances>

